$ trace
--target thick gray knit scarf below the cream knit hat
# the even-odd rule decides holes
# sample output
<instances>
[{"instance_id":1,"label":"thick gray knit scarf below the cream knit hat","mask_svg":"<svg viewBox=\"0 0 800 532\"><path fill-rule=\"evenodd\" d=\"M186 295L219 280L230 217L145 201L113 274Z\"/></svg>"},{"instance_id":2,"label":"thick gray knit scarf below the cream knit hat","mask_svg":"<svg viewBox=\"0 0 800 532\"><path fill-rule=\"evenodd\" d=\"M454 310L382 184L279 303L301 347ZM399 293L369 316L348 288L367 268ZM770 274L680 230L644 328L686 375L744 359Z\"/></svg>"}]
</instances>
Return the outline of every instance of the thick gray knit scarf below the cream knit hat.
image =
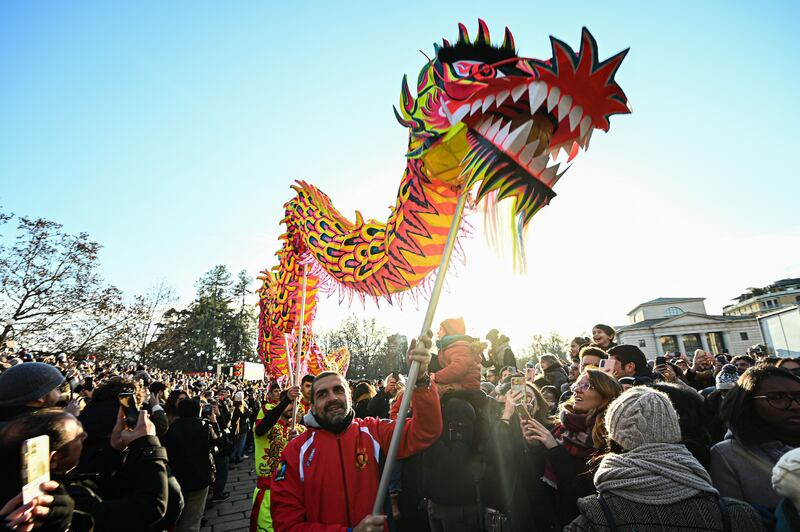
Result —
<instances>
[{"instance_id":1,"label":"thick gray knit scarf below the cream knit hat","mask_svg":"<svg viewBox=\"0 0 800 532\"><path fill-rule=\"evenodd\" d=\"M594 475L600 493L663 506L699 493L719 492L694 456L679 443L650 443L623 454L606 455Z\"/></svg>"}]
</instances>

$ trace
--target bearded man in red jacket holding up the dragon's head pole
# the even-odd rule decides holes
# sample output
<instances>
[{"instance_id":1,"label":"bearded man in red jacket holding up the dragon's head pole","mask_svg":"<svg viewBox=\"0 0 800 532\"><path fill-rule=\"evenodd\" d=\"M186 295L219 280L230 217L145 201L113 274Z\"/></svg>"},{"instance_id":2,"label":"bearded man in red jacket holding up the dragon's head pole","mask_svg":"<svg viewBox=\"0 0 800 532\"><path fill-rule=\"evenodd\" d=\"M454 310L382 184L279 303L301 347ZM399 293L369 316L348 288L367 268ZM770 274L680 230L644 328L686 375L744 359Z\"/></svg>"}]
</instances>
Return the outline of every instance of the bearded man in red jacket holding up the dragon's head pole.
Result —
<instances>
[{"instance_id":1,"label":"bearded man in red jacket holding up the dragon's head pole","mask_svg":"<svg viewBox=\"0 0 800 532\"><path fill-rule=\"evenodd\" d=\"M420 376L414 418L399 435L400 458L426 449L442 432L439 394L427 373L430 346L423 336L409 350ZM395 422L355 419L350 387L334 372L317 375L310 401L308 430L286 446L271 482L275 530L383 531L386 517L371 514Z\"/></svg>"}]
</instances>

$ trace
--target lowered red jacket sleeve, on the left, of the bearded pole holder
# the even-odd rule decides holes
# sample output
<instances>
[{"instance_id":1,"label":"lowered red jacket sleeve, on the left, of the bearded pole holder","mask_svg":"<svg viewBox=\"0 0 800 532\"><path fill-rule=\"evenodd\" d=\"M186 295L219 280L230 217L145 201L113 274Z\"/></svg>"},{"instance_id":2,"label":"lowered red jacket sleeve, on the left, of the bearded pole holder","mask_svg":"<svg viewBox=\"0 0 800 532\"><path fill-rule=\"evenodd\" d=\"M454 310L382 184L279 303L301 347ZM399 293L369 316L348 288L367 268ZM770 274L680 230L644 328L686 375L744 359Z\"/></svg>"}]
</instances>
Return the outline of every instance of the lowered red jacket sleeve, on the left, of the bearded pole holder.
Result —
<instances>
[{"instance_id":1,"label":"lowered red jacket sleeve, on the left, of the bearded pole holder","mask_svg":"<svg viewBox=\"0 0 800 532\"><path fill-rule=\"evenodd\" d=\"M275 468L270 483L270 511L275 532L347 532L346 526L306 521L303 483L300 481L298 468L298 446L288 445L281 458L281 465ZM286 464L285 469L283 464ZM316 502L312 501L312 504Z\"/></svg>"}]
</instances>

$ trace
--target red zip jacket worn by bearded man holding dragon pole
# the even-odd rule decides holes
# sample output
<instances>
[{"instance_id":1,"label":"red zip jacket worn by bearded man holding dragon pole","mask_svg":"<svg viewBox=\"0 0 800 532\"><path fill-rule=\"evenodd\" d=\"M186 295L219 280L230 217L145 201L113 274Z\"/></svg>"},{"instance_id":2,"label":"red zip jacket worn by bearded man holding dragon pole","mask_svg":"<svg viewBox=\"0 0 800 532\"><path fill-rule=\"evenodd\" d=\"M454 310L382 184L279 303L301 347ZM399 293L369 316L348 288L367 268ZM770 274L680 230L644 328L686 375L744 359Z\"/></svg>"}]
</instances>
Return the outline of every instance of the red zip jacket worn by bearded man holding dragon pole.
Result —
<instances>
[{"instance_id":1,"label":"red zip jacket worn by bearded man holding dragon pole","mask_svg":"<svg viewBox=\"0 0 800 532\"><path fill-rule=\"evenodd\" d=\"M399 458L423 451L442 433L435 385L411 398L414 418L403 427ZM275 470L270 506L276 532L344 532L372 513L380 453L389 449L394 421L354 419L341 434L309 429L289 442Z\"/></svg>"}]
</instances>

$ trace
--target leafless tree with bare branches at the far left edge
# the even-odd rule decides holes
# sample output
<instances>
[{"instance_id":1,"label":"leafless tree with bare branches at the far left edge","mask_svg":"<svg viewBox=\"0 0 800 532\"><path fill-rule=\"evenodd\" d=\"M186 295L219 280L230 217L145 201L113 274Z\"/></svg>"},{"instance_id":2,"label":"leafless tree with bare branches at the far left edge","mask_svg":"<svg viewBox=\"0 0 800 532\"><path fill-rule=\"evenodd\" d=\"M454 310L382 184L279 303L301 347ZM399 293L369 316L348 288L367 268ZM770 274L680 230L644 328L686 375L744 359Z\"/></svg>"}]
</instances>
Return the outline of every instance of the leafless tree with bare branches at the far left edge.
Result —
<instances>
[{"instance_id":1,"label":"leafless tree with bare branches at the far left edge","mask_svg":"<svg viewBox=\"0 0 800 532\"><path fill-rule=\"evenodd\" d=\"M43 351L76 353L110 339L125 307L97 274L99 250L86 233L19 217L13 244L0 247L0 345L13 333Z\"/></svg>"}]
</instances>

